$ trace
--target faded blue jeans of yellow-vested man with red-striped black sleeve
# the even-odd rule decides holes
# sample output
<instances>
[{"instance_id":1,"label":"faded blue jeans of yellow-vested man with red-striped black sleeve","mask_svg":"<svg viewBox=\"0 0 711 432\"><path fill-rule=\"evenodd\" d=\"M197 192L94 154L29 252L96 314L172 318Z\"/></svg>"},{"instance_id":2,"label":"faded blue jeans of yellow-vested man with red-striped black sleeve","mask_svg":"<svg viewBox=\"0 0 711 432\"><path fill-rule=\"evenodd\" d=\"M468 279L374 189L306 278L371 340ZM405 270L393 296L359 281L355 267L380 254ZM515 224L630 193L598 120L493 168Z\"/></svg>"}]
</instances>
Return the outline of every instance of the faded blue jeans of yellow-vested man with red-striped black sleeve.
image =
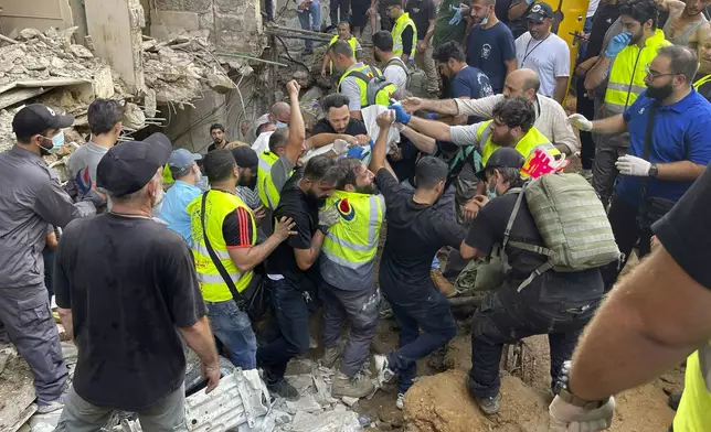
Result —
<instances>
[{"instance_id":1,"label":"faded blue jeans of yellow-vested man with red-striped black sleeve","mask_svg":"<svg viewBox=\"0 0 711 432\"><path fill-rule=\"evenodd\" d=\"M212 332L225 345L232 364L244 370L256 369L257 338L250 315L232 300L205 305Z\"/></svg>"}]
</instances>

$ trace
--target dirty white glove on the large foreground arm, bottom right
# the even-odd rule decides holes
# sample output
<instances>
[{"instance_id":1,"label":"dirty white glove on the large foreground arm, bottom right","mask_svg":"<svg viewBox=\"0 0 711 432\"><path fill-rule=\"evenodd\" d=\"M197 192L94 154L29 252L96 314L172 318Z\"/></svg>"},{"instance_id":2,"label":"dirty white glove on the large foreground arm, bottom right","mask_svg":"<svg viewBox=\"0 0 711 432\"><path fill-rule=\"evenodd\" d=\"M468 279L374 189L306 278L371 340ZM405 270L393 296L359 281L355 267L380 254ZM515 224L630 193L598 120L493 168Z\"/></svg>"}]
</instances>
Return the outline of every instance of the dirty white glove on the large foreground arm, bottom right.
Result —
<instances>
[{"instance_id":1,"label":"dirty white glove on the large foreground arm, bottom right","mask_svg":"<svg viewBox=\"0 0 711 432\"><path fill-rule=\"evenodd\" d=\"M550 432L596 432L613 423L615 398L596 410L586 410L565 402L559 396L548 407Z\"/></svg>"}]
</instances>

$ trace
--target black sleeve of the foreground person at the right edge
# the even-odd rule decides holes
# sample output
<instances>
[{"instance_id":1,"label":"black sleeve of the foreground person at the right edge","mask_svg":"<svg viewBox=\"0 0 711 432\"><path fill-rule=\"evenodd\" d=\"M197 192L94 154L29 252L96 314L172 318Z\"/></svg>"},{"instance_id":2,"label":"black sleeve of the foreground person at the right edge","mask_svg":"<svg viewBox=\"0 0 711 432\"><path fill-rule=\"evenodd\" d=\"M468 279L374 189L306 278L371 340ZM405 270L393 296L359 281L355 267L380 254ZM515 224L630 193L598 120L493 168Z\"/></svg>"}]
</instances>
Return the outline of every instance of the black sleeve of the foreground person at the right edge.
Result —
<instances>
[{"instance_id":1,"label":"black sleeve of the foreground person at the right edge","mask_svg":"<svg viewBox=\"0 0 711 432\"><path fill-rule=\"evenodd\" d=\"M701 177L659 219L652 230L667 252L693 280L711 289L711 270L708 255L702 251L711 242L711 171Z\"/></svg>"}]
</instances>

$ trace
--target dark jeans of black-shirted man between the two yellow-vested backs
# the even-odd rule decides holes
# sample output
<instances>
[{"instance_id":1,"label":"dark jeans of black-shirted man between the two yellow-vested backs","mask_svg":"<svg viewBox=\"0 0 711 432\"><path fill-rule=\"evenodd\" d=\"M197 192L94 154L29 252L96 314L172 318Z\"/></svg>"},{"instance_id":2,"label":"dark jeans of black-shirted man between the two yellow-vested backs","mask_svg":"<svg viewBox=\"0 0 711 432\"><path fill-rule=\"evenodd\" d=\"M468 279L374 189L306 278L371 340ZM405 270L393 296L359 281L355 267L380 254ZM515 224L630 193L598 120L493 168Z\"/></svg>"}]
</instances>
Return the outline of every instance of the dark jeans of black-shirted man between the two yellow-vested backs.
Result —
<instances>
[{"instance_id":1,"label":"dark jeans of black-shirted man between the two yellow-vested backs","mask_svg":"<svg viewBox=\"0 0 711 432\"><path fill-rule=\"evenodd\" d=\"M275 384L284 379L286 365L309 350L309 307L306 298L288 279L267 279L272 293L269 337L257 350L264 380Z\"/></svg>"}]
</instances>

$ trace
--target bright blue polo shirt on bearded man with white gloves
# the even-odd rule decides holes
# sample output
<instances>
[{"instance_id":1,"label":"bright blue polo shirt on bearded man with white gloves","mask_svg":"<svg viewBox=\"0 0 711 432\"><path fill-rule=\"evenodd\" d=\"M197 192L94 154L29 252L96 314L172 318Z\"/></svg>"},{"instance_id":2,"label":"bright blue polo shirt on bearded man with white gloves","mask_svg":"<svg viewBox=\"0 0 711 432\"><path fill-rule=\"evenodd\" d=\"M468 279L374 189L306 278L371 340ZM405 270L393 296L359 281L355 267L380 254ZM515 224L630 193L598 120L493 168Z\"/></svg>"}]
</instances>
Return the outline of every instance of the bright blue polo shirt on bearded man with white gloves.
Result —
<instances>
[{"instance_id":1,"label":"bright blue polo shirt on bearded man with white gloves","mask_svg":"<svg viewBox=\"0 0 711 432\"><path fill-rule=\"evenodd\" d=\"M657 104L654 118L649 158L651 163L691 161L708 165L711 161L711 104L696 90L691 90L676 104L662 106L646 93L627 108L623 115L629 131L627 154L641 158L647 134L647 119L651 104ZM629 204L641 201L640 182L643 177L620 175L615 193ZM647 197L679 201L692 181L665 181L649 179Z\"/></svg>"}]
</instances>

